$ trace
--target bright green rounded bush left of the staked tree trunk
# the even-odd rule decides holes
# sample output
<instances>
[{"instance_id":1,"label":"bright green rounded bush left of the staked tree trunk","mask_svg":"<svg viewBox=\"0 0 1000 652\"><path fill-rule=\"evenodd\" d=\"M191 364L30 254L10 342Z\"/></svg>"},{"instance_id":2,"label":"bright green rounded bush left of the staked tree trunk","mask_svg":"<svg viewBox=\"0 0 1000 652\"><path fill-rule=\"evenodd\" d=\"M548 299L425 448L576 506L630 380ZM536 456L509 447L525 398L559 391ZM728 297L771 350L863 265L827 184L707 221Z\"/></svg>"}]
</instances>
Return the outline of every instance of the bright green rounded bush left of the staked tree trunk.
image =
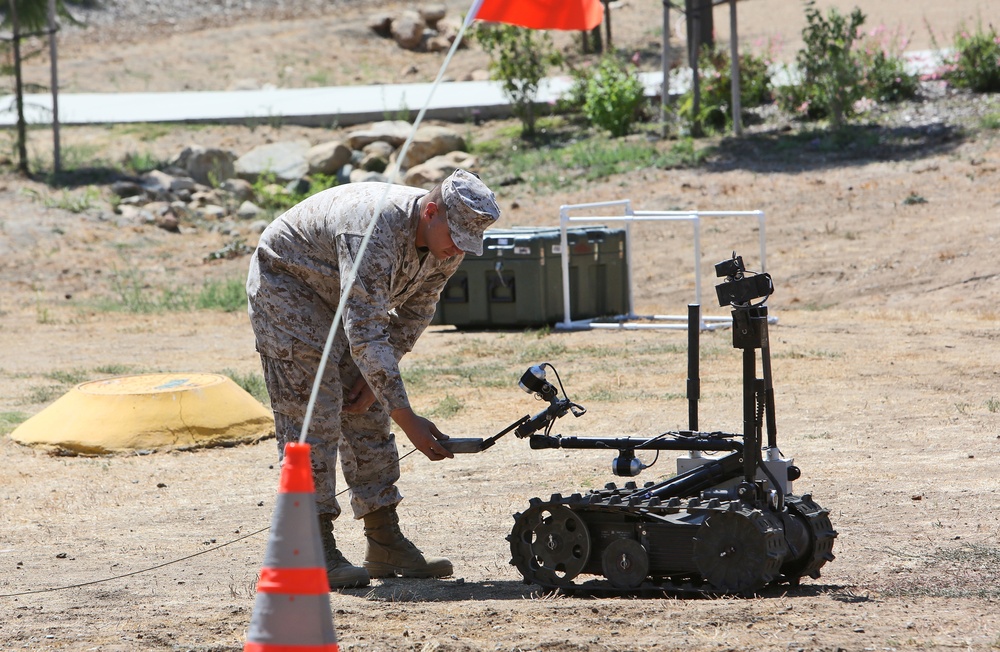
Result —
<instances>
[{"instance_id":1,"label":"bright green rounded bush left of the staked tree trunk","mask_svg":"<svg viewBox=\"0 0 1000 652\"><path fill-rule=\"evenodd\" d=\"M573 95L582 96L581 108L591 124L615 137L629 132L645 100L634 67L614 55L605 55L593 74L578 78L577 86L579 90Z\"/></svg>"}]
</instances>

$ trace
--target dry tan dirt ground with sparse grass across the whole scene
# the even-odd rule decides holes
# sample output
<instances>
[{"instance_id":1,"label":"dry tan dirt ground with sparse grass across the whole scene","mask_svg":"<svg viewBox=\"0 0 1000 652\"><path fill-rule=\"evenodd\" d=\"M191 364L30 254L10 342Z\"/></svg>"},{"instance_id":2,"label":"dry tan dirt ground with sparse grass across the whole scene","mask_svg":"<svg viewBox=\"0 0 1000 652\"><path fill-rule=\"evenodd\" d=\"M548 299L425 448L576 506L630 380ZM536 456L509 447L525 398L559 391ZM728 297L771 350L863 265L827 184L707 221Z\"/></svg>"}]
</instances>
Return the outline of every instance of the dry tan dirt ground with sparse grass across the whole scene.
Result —
<instances>
[{"instance_id":1,"label":"dry tan dirt ground with sparse grass across the whole scene","mask_svg":"<svg viewBox=\"0 0 1000 652\"><path fill-rule=\"evenodd\" d=\"M893 15L918 28L919 13L907 13L907 3L891 4L898 9ZM659 3L633 0L621 10L616 27L623 26L623 39L627 16L641 24L647 5ZM748 13L754 3L744 5ZM952 6L955 15L972 20L984 10L976 2ZM772 14L775 31L794 32L798 10L787 13L794 14L788 25L779 24L782 12ZM301 18L292 20L288 33ZM344 23L350 20L345 16ZM283 41L275 36L272 42L265 30L284 33L283 25L185 32L189 48L171 42L176 34L154 38L153 30L143 48L177 53L171 65L158 61L165 78L185 65L186 53L207 47L200 43L215 44L220 57L250 61L259 54L263 62L277 61L268 48ZM261 31L251 39L246 29ZM341 49L370 45L357 39L343 41ZM122 60L153 65L129 49L134 44L119 50L116 42L103 42L101 57L94 47L70 41L61 54L68 71L89 71L95 85L89 90L114 90L100 80L121 79ZM393 62L386 70L404 67L400 55L379 47ZM471 69L479 56L469 52L460 65ZM421 69L432 61L417 59ZM346 52L341 60L345 68L353 65ZM220 63L211 80L190 70L186 79L192 88L225 87L220 80L230 73L220 71L228 65ZM148 79L161 89L159 74ZM117 90L142 89L123 84ZM117 141L108 143L108 133L72 129L64 138L81 148L141 146L166 156L185 139L242 149L296 135L329 136L288 126L194 133L163 127L155 138L140 129L114 132ZM33 147L42 149L44 137L36 134ZM405 531L425 551L450 557L455 576L380 580L332 593L341 648L1000 647L997 138L995 130L954 132L933 146L890 149L874 159L838 158L804 145L780 165L755 153L767 141L750 141L700 169L648 169L565 193L498 189L507 225L555 225L561 204L621 198L647 210L765 211L767 271L777 288L768 305L778 319L771 346L779 444L802 468L796 493L811 493L830 510L839 532L836 560L817 580L753 598L541 593L508 565L512 515L532 497L616 479L608 454L532 451L508 436L485 453L452 461L431 463L419 453L404 458ZM244 275L246 257L205 262L231 235L116 227L44 201L53 195L58 191L41 183L0 178L0 269L7 279L0 295L0 416L34 414L73 382L109 369L258 371L243 313L134 315L98 303L114 297L123 279L156 292ZM638 311L683 313L694 292L689 231L641 224L633 235ZM721 314L709 301L712 264L735 249L757 268L757 242L752 220L706 220L700 252L706 312ZM677 330L439 326L404 364L411 372L432 372L413 373L420 379L410 389L414 406L455 436L489 436L537 411L517 380L543 361L556 366L570 397L589 410L563 419L555 431L649 436L687 425L685 355L686 336ZM703 334L703 429L742 429L740 365L729 330ZM411 447L401 441L400 450ZM241 649L278 482L273 439L225 449L68 457L3 437L0 458L0 649ZM672 471L673 461L661 460L638 480ZM360 524L344 518L337 533L348 557L360 561Z\"/></svg>"}]
</instances>

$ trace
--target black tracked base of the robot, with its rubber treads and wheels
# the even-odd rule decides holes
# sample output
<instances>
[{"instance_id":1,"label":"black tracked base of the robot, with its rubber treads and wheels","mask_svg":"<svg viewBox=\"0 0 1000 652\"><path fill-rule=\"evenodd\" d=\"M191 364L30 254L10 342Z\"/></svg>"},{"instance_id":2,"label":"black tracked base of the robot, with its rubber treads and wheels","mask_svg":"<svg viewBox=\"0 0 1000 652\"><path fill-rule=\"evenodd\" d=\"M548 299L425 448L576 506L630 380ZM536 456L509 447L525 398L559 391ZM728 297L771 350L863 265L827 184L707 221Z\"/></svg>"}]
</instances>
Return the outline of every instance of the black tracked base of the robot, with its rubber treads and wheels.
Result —
<instances>
[{"instance_id":1,"label":"black tracked base of the robot, with its rubber treads and wheels","mask_svg":"<svg viewBox=\"0 0 1000 652\"><path fill-rule=\"evenodd\" d=\"M565 594L712 596L795 586L833 559L837 533L809 495L786 496L779 514L718 499L643 499L654 486L532 499L514 516L511 564L525 583ZM598 578L577 581L586 575Z\"/></svg>"}]
</instances>

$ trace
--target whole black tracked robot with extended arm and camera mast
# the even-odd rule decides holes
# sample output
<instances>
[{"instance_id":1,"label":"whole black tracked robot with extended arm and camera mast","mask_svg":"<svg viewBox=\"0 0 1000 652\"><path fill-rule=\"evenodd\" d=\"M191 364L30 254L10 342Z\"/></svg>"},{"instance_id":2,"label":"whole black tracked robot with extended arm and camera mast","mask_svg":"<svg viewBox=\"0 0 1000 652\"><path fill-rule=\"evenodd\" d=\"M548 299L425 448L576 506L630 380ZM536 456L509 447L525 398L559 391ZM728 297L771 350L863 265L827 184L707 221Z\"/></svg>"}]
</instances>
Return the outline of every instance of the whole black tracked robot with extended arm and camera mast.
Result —
<instances>
[{"instance_id":1,"label":"whole black tracked robot with extended arm and camera mast","mask_svg":"<svg viewBox=\"0 0 1000 652\"><path fill-rule=\"evenodd\" d=\"M453 440L455 452L476 452L514 431L536 450L613 450L618 456L612 470L625 477L647 468L637 451L657 456L664 450L687 451L677 460L677 474L666 480L641 487L634 481L621 487L609 483L586 494L531 499L524 512L514 515L507 537L510 563L525 583L569 594L750 595L769 584L798 586L802 577L816 579L834 559L837 532L828 510L810 494L792 493L800 471L778 450L764 305L774 291L771 278L747 272L735 254L716 265L716 273L726 277L716 292L720 305L732 307L733 347L743 351L742 435L698 429L700 308L691 305L687 430L651 438L552 435L557 419L586 410L566 397L558 373L545 363L528 369L520 386L547 401L546 409L492 438ZM545 379L546 367L555 373L561 397ZM576 581L588 575L597 577Z\"/></svg>"}]
</instances>

